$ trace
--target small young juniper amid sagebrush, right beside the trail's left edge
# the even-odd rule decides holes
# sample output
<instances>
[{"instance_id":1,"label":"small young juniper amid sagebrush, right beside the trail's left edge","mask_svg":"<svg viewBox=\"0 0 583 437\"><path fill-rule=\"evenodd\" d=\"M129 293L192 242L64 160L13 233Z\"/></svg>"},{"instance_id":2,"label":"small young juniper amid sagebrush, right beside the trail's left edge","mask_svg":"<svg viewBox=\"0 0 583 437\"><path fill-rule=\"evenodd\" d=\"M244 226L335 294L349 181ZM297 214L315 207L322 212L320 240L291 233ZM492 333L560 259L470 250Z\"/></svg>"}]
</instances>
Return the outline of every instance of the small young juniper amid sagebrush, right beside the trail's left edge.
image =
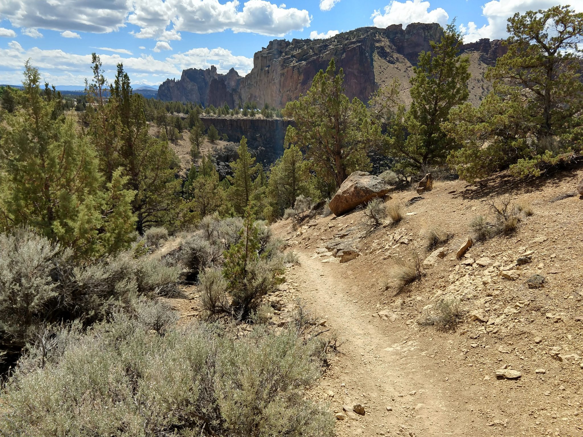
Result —
<instances>
[{"instance_id":1,"label":"small young juniper amid sagebrush, right beside the trail's left edge","mask_svg":"<svg viewBox=\"0 0 583 437\"><path fill-rule=\"evenodd\" d=\"M245 320L256 311L262 298L283 282L281 259L260 254L261 239L251 212L245 213L241 240L224 252L223 276L231 295L231 311L237 320Z\"/></svg>"}]
</instances>

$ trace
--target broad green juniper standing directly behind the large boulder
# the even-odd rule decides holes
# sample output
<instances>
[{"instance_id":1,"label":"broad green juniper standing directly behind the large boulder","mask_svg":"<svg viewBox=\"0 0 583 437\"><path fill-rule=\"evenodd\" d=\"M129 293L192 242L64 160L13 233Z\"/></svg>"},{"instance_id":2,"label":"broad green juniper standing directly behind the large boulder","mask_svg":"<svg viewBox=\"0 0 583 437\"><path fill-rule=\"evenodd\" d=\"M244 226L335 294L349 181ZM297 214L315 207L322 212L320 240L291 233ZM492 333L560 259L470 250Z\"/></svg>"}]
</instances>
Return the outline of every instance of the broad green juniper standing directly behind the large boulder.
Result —
<instances>
[{"instance_id":1,"label":"broad green juniper standing directly behind the large boulder","mask_svg":"<svg viewBox=\"0 0 583 437\"><path fill-rule=\"evenodd\" d=\"M344 94L344 72L336 72L334 60L320 71L305 96L289 102L283 115L293 118L286 143L306 150L316 175L328 191L338 188L354 170L368 170L369 139L375 133L364 104Z\"/></svg>"}]
</instances>

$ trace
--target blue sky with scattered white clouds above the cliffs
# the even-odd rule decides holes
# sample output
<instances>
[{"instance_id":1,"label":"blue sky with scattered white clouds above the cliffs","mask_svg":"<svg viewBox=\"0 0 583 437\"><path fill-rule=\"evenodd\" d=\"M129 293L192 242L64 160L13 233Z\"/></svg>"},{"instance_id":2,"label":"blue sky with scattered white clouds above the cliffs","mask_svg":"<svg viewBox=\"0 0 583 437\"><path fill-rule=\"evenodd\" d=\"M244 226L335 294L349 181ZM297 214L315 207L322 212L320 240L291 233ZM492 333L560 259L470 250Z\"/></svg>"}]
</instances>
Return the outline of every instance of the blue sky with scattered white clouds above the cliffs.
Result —
<instances>
[{"instance_id":1,"label":"blue sky with scattered white clouds above the cliffs","mask_svg":"<svg viewBox=\"0 0 583 437\"><path fill-rule=\"evenodd\" d=\"M281 2L285 1L285 3ZM362 26L456 19L466 42L503 38L515 12L550 0L0 0L0 83L18 84L30 58L55 85L83 84L90 54L106 74L123 62L134 84L155 85L185 68L241 75L278 38L324 38ZM583 11L583 0L571 0Z\"/></svg>"}]
</instances>

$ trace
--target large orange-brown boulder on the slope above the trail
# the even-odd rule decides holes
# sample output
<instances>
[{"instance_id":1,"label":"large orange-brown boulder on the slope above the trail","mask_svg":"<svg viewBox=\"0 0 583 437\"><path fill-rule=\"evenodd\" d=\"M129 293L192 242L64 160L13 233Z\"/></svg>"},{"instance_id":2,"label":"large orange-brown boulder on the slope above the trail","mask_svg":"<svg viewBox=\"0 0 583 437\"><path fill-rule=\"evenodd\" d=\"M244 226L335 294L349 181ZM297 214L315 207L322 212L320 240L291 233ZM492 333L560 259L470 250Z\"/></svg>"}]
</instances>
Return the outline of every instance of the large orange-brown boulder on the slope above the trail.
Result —
<instances>
[{"instance_id":1,"label":"large orange-brown boulder on the slope above the trail","mask_svg":"<svg viewBox=\"0 0 583 437\"><path fill-rule=\"evenodd\" d=\"M336 216L340 216L369 200L382 198L391 188L381 178L364 171L355 171L342 182L328 206Z\"/></svg>"}]
</instances>

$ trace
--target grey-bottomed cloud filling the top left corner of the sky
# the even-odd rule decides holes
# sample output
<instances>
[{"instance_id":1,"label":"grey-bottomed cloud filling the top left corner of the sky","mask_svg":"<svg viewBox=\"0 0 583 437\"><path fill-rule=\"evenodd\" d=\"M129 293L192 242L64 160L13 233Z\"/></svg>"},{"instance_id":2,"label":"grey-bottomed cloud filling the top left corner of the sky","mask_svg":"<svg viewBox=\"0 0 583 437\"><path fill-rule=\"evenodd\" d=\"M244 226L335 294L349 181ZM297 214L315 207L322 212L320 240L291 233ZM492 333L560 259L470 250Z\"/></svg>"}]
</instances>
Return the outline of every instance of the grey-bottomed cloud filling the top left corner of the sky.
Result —
<instances>
[{"instance_id":1,"label":"grey-bottomed cloud filling the top left corner of the sky","mask_svg":"<svg viewBox=\"0 0 583 437\"><path fill-rule=\"evenodd\" d=\"M144 1L144 0L139 0ZM12 26L107 33L119 30L132 0L2 0L0 16Z\"/></svg>"}]
</instances>

